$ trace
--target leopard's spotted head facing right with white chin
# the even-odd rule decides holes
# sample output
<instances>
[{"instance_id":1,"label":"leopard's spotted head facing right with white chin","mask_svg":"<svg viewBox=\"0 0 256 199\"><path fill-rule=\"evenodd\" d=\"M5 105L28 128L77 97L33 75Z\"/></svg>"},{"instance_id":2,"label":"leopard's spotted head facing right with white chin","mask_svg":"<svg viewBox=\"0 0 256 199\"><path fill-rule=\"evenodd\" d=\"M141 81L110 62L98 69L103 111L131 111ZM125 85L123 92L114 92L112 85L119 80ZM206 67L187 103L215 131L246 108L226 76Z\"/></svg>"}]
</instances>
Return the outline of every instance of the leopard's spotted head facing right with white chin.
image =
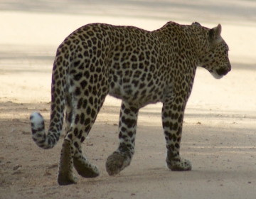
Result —
<instances>
[{"instance_id":1,"label":"leopard's spotted head facing right with white chin","mask_svg":"<svg viewBox=\"0 0 256 199\"><path fill-rule=\"evenodd\" d=\"M199 56L199 65L206 68L213 77L220 79L231 70L228 59L228 45L220 36L220 24L212 29L206 30L207 45L202 49Z\"/></svg>"}]
</instances>

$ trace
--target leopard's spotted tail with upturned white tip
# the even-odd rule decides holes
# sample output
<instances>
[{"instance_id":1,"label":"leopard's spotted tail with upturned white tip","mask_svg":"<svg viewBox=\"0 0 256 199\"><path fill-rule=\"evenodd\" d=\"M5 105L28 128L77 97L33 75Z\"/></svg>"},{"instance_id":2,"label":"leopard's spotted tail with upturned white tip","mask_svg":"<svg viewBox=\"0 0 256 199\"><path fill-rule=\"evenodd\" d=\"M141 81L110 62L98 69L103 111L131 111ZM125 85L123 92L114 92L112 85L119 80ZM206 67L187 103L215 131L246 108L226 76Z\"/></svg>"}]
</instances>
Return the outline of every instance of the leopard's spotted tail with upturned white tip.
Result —
<instances>
[{"instance_id":1,"label":"leopard's spotted tail with upturned white tip","mask_svg":"<svg viewBox=\"0 0 256 199\"><path fill-rule=\"evenodd\" d=\"M30 116L33 141L43 149L53 148L57 144L63 127L65 75L59 74L59 69L63 66L58 64L60 64L60 61L58 61L57 54L53 64L52 80L58 77L58 82L53 81L51 86L50 127L48 133L46 134L45 122L40 113L33 112Z\"/></svg>"}]
</instances>

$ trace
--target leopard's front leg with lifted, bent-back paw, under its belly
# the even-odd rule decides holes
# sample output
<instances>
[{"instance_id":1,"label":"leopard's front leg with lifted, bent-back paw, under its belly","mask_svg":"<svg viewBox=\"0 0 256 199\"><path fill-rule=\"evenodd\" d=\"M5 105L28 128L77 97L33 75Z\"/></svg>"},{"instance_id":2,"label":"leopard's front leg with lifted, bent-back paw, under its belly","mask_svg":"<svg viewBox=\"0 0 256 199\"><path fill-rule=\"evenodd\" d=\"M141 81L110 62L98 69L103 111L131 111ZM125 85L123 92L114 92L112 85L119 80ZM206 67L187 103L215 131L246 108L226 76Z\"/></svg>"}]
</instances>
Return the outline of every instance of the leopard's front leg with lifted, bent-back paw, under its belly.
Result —
<instances>
[{"instance_id":1,"label":"leopard's front leg with lifted, bent-back paw, under its belly","mask_svg":"<svg viewBox=\"0 0 256 199\"><path fill-rule=\"evenodd\" d=\"M113 176L129 166L134 155L138 111L136 107L122 102L119 117L119 147L107 158L106 170Z\"/></svg>"}]
</instances>

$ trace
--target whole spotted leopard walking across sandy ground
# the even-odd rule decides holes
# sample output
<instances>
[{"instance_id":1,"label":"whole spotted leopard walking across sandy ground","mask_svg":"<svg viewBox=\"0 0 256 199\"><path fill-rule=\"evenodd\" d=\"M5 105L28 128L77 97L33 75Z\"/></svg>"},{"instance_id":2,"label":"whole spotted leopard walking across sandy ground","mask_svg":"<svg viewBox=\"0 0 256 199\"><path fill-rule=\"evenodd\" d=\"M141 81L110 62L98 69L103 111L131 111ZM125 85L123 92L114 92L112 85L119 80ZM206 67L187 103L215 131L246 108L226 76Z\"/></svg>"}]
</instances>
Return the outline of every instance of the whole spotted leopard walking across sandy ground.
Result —
<instances>
[{"instance_id":1,"label":"whole spotted leopard walking across sandy ground","mask_svg":"<svg viewBox=\"0 0 256 199\"><path fill-rule=\"evenodd\" d=\"M221 29L220 24L207 28L198 22L169 21L154 31L90 23L70 33L55 54L48 132L39 112L30 116L33 141L43 149L58 142L65 117L58 184L77 183L73 168L84 178L100 175L97 166L82 154L81 144L107 95L122 100L119 144L105 163L110 176L131 163L139 109L156 102L162 103L167 167L191 171L191 161L180 156L184 111L197 67L216 79L231 70Z\"/></svg>"}]
</instances>

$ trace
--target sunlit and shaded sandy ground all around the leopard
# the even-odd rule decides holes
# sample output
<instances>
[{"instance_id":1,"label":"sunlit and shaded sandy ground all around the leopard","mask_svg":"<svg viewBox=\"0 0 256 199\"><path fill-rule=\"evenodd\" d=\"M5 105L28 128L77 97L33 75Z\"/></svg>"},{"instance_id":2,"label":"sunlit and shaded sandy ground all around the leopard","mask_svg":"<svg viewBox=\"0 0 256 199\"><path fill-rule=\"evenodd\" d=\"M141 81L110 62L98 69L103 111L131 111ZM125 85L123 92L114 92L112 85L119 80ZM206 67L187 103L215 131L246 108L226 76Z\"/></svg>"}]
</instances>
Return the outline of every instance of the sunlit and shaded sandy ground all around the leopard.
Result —
<instances>
[{"instance_id":1,"label":"sunlit and shaded sandy ground all around the leopard","mask_svg":"<svg viewBox=\"0 0 256 199\"><path fill-rule=\"evenodd\" d=\"M255 1L0 1L0 198L255 198L256 2ZM75 2L75 3L74 3ZM193 2L193 3L191 3ZM117 148L120 101L107 97L83 153L100 176L78 184L56 182L63 136L51 150L31 139L29 114L50 116L55 50L65 36L91 22L147 30L166 21L223 26L232 71L215 80L198 68L188 101L181 156L192 171L165 166L161 104L139 112L131 165L105 171Z\"/></svg>"}]
</instances>

